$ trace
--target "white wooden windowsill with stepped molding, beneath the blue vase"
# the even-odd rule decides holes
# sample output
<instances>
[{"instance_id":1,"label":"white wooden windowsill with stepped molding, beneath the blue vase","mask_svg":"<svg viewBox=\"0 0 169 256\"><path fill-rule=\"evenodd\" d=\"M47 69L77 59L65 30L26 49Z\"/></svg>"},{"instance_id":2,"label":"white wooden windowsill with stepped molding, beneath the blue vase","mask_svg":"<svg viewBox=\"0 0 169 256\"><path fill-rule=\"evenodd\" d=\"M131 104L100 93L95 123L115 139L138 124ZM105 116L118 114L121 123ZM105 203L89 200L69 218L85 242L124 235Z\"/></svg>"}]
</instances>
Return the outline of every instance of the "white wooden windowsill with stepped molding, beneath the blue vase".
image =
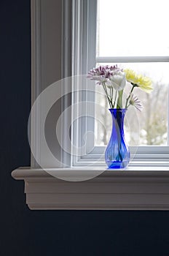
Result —
<instances>
[{"instance_id":1,"label":"white wooden windowsill with stepped molding, beneath the blue vase","mask_svg":"<svg viewBox=\"0 0 169 256\"><path fill-rule=\"evenodd\" d=\"M26 203L31 209L169 210L169 167L105 170L79 182L54 177L57 172L75 177L82 171L79 178L85 179L87 173L95 175L97 170L101 168L52 169L51 175L42 169L20 167L12 177L24 179Z\"/></svg>"}]
</instances>

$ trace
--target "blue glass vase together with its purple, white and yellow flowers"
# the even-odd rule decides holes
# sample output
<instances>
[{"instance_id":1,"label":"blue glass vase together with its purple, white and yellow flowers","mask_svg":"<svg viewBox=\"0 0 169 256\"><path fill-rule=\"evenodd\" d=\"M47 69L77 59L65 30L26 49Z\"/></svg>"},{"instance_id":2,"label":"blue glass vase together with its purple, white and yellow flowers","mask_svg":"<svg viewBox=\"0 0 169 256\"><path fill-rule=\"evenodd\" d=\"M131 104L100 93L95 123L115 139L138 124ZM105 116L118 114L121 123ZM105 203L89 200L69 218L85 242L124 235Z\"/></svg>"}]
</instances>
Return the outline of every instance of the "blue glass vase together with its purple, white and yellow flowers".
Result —
<instances>
[{"instance_id":1,"label":"blue glass vase together with its purple, white and yellow flowers","mask_svg":"<svg viewBox=\"0 0 169 256\"><path fill-rule=\"evenodd\" d=\"M98 85L103 86L110 106L113 126L105 152L106 165L109 169L125 168L130 161L130 150L125 143L123 129L125 113L130 105L142 110L141 101L133 94L133 91L138 87L149 93L152 91L152 80L136 74L132 69L121 69L117 65L91 69L87 78L95 80ZM130 92L127 96L124 94L126 82L130 83Z\"/></svg>"}]
</instances>

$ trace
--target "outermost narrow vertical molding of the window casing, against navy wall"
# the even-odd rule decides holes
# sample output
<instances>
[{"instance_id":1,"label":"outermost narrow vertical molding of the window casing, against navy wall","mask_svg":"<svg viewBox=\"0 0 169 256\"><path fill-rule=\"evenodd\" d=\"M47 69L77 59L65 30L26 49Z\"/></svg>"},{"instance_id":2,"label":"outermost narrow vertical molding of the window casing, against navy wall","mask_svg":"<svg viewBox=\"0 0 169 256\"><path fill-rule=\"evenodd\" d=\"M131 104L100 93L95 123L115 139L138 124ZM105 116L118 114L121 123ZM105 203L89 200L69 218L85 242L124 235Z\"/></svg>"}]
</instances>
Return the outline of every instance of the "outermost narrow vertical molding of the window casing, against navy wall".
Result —
<instances>
[{"instance_id":1,"label":"outermost narrow vertical molding of the window casing, against navy wall","mask_svg":"<svg viewBox=\"0 0 169 256\"><path fill-rule=\"evenodd\" d=\"M41 0L31 0L31 106L42 91L42 13ZM35 158L40 158L40 109L36 108L36 118L30 117L28 136ZM31 154L31 166L38 167Z\"/></svg>"}]
</instances>

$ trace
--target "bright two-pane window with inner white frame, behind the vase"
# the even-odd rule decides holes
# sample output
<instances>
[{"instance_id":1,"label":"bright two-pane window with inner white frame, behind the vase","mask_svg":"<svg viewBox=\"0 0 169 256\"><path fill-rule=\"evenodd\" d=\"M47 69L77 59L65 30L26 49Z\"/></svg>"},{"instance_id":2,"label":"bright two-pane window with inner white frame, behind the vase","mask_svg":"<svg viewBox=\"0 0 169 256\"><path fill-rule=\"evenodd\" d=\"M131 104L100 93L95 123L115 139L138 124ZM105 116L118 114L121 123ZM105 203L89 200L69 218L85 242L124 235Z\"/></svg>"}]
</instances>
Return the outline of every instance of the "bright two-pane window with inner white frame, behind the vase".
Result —
<instances>
[{"instance_id":1,"label":"bright two-pane window with inner white frame, behind the vase","mask_svg":"<svg viewBox=\"0 0 169 256\"><path fill-rule=\"evenodd\" d=\"M127 142L134 158L131 164L168 165L169 37L166 34L168 26L167 1L162 0L162 4L161 2L154 4L153 1L149 1L148 4L145 1L140 1L135 4L133 0L127 2L98 0L86 1L86 3L86 9L83 8L83 17L86 19L78 23L79 26L82 26L81 31L84 32L80 35L82 45L79 39L79 48L86 47L88 51L85 53L88 53L89 59L84 58L87 61L83 60L81 74L87 74L89 69L98 64L119 64L152 78L154 83L152 94L136 91L144 103L144 111L137 113L132 132L130 132L130 119L133 118L130 112L132 110L129 110L127 115ZM139 12L137 12L138 9ZM114 10L119 11L114 12ZM85 16L86 13L87 16ZM157 17L159 18L157 19ZM74 39L76 41L76 34ZM91 87L87 88L91 89ZM81 95L81 99L90 98L90 102L105 106L106 99L100 94L102 91L95 88L95 94L92 91L86 92ZM111 118L107 111L102 113L102 124L97 121L98 116L101 116L101 111L96 105L94 113L91 114L90 111L90 117L87 117L86 113L85 120L79 120L78 125L83 127L83 131L79 135L80 142L76 140L77 147L82 144L87 132L88 139L86 136L86 154L83 154L82 157L74 157L74 165L91 165L92 163L104 165L103 152L109 140ZM101 117L99 119L101 120ZM103 127L103 123L106 123L106 129Z\"/></svg>"}]
</instances>

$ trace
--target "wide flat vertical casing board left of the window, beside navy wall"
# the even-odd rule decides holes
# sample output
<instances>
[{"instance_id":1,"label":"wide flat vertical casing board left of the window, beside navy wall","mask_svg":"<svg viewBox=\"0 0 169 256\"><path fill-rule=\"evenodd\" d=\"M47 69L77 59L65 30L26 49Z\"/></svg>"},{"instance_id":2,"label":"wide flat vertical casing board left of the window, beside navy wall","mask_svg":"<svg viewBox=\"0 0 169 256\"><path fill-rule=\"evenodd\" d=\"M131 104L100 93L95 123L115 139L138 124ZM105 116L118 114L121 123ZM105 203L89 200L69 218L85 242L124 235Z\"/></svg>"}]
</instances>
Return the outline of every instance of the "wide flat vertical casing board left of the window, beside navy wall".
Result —
<instances>
[{"instance_id":1,"label":"wide flat vertical casing board left of the window, beside navy wall","mask_svg":"<svg viewBox=\"0 0 169 256\"><path fill-rule=\"evenodd\" d=\"M36 98L44 89L52 83L61 79L62 72L62 22L63 22L63 2L62 0L31 0L31 99L32 105ZM61 87L61 86L60 86ZM58 86L58 91L60 88ZM31 136L31 148L34 148L34 157L38 159L39 165L52 167L55 164L51 159L44 156L42 144L42 118L43 105L39 102L34 109L34 118L31 117L29 123L29 136ZM55 109L51 111L50 120L57 121L62 113L62 102L57 102ZM48 138L53 143L50 144L53 153L58 159L61 158L61 148L59 143L50 138L50 129L47 128ZM51 133L52 134L52 133ZM52 135L51 135L52 136ZM31 167L38 167L34 157L31 157Z\"/></svg>"}]
</instances>

